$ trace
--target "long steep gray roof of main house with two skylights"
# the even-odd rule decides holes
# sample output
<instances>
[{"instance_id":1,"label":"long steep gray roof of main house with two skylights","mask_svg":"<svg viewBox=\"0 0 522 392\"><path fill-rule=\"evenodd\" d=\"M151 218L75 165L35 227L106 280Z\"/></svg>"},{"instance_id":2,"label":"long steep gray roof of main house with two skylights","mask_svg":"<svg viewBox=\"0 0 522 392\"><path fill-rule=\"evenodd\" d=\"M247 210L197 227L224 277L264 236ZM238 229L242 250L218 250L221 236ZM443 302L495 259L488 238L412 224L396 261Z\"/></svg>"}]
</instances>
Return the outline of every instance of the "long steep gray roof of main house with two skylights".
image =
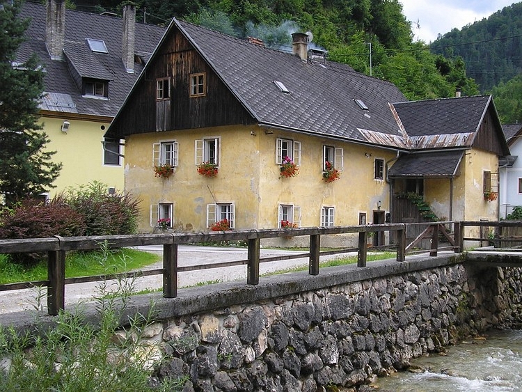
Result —
<instances>
[{"instance_id":1,"label":"long steep gray roof of main house with two skylights","mask_svg":"<svg viewBox=\"0 0 522 392\"><path fill-rule=\"evenodd\" d=\"M169 26L169 31L173 29L191 42L260 125L376 145L386 141L386 146L406 148L404 133L389 107L390 102L403 101L404 95L388 81L367 77L348 65L301 61L293 54L177 19ZM155 54L167 44L161 42ZM153 65L154 56L148 66ZM274 81L280 81L288 92ZM128 131L116 128L117 117L108 134Z\"/></svg>"}]
</instances>

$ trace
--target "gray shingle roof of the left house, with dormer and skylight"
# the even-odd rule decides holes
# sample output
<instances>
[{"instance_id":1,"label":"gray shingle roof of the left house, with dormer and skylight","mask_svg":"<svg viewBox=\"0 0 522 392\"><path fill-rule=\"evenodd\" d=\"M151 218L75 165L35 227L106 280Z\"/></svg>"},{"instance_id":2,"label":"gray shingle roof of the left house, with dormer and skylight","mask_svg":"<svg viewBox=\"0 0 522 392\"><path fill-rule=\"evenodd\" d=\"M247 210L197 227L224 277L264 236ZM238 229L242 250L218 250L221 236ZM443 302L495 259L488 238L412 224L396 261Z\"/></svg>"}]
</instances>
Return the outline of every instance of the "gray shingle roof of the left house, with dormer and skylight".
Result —
<instances>
[{"instance_id":1,"label":"gray shingle roof of the left house, with dormer and skylight","mask_svg":"<svg viewBox=\"0 0 522 392\"><path fill-rule=\"evenodd\" d=\"M45 47L46 8L40 3L24 3L22 18L31 18L26 31L28 40L22 44L17 60L24 61L31 54L38 54L45 65L45 92L53 93L42 103L42 109L76 111L93 116L116 116L125 97L143 70L143 64L135 64L134 74L125 72L122 62L122 19L65 10L65 54L72 61L79 75L110 80L109 100L97 100L81 96L77 84L70 75L65 61L52 61ZM165 29L159 26L136 23L135 52L150 57L161 40ZM104 40L108 54L90 51L86 38ZM65 110L69 109L69 110Z\"/></svg>"}]
</instances>

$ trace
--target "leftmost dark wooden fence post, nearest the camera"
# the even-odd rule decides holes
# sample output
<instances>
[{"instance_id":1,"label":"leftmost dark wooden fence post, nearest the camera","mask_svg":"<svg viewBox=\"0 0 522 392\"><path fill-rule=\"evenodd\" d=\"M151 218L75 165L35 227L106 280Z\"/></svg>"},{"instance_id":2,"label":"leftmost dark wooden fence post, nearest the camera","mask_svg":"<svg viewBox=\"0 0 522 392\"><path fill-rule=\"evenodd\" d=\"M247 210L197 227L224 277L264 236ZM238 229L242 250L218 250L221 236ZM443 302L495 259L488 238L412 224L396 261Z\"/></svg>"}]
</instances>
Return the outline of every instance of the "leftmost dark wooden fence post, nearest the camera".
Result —
<instances>
[{"instance_id":1,"label":"leftmost dark wooden fence post, nearest the camera","mask_svg":"<svg viewBox=\"0 0 522 392\"><path fill-rule=\"evenodd\" d=\"M56 316L65 309L65 251L49 251L48 254L47 313Z\"/></svg>"}]
</instances>

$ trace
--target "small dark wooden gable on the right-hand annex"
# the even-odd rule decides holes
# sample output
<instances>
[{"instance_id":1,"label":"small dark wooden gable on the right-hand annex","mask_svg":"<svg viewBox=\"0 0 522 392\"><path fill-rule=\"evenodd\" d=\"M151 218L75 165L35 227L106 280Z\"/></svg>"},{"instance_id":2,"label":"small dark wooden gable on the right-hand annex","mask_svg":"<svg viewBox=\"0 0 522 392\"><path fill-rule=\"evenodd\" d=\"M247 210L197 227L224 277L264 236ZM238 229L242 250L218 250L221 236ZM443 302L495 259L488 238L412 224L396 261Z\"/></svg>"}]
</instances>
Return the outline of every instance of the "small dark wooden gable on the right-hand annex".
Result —
<instances>
[{"instance_id":1,"label":"small dark wooden gable on the right-hand annex","mask_svg":"<svg viewBox=\"0 0 522 392\"><path fill-rule=\"evenodd\" d=\"M494 152L499 157L509 155L507 142L502 125L492 104L489 104L486 114L473 140L473 148Z\"/></svg>"}]
</instances>

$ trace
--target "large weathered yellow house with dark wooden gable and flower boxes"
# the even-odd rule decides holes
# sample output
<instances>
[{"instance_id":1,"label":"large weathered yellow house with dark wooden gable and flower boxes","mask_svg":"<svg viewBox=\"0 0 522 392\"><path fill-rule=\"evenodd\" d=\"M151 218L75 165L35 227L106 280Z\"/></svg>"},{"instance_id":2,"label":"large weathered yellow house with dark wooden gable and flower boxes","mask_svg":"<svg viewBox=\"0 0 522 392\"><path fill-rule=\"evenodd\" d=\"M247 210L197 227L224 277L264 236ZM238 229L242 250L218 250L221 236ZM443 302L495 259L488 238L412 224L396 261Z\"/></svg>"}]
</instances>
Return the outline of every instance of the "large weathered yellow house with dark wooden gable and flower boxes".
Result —
<instances>
[{"instance_id":1,"label":"large weathered yellow house with dark wooden gable and flower boxes","mask_svg":"<svg viewBox=\"0 0 522 392\"><path fill-rule=\"evenodd\" d=\"M432 219L497 219L490 95L407 102L292 38L288 54L173 19L105 135L125 139L141 230L423 219L410 191Z\"/></svg>"}]
</instances>

